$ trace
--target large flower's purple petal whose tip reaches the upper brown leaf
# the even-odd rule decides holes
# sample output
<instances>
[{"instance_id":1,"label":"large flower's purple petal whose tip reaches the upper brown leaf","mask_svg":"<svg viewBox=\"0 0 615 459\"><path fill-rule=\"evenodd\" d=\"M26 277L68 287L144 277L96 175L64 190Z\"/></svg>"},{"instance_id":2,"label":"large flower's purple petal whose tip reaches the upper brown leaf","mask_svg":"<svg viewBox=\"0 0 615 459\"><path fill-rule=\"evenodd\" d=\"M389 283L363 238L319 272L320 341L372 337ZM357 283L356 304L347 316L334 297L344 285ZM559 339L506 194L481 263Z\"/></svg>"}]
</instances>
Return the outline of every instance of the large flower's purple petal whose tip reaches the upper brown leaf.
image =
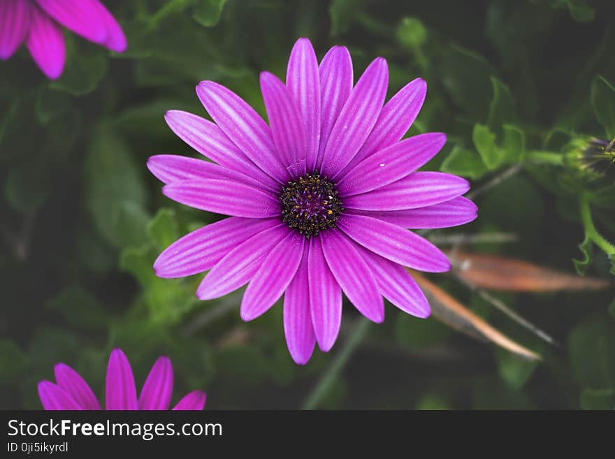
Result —
<instances>
[{"instance_id":1,"label":"large flower's purple petal whose tip reaches the upper brown leaf","mask_svg":"<svg viewBox=\"0 0 615 459\"><path fill-rule=\"evenodd\" d=\"M363 247L400 265L426 272L445 272L451 268L440 249L401 226L351 214L340 215L335 224Z\"/></svg>"}]
</instances>

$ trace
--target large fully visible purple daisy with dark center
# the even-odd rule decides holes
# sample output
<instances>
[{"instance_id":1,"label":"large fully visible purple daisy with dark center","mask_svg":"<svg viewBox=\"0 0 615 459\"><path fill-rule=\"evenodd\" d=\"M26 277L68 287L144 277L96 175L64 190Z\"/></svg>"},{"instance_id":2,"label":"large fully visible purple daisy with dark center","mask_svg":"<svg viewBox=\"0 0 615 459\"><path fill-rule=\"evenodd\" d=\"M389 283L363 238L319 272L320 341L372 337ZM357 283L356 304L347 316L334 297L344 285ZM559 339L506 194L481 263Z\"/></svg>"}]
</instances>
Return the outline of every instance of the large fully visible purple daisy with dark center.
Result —
<instances>
[{"instance_id":1,"label":"large fully visible purple daisy with dark center","mask_svg":"<svg viewBox=\"0 0 615 459\"><path fill-rule=\"evenodd\" d=\"M342 291L380 323L382 297L414 316L430 313L404 267L449 270L437 247L407 228L443 228L475 219L461 197L468 182L416 172L446 141L442 133L400 140L417 117L426 83L417 78L386 104L388 69L379 57L353 85L352 60L335 46L318 64L301 38L286 84L261 73L269 126L239 96L212 81L196 94L214 122L171 110L166 122L215 163L152 156L150 171L179 203L230 218L173 243L154 263L160 277L210 270L196 295L210 300L248 284L243 320L284 295L284 332L296 363L338 337ZM383 106L384 104L384 106Z\"/></svg>"}]
</instances>

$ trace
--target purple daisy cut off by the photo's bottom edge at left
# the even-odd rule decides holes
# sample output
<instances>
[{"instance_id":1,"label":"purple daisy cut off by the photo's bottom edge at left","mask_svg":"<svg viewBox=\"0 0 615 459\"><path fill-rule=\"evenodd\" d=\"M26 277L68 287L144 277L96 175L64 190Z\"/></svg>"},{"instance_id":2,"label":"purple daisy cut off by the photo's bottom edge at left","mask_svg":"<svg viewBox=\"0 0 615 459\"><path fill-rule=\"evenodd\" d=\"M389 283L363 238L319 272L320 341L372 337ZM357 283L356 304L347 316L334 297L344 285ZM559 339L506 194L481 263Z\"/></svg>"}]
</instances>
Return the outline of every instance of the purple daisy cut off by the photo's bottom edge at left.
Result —
<instances>
[{"instance_id":1,"label":"purple daisy cut off by the photo's bottom edge at left","mask_svg":"<svg viewBox=\"0 0 615 459\"><path fill-rule=\"evenodd\" d=\"M64 363L54 367L56 383L38 383L38 396L43 408L57 409L101 409L96 395L85 379ZM106 409L168 409L173 395L173 366L168 357L159 357L137 398L132 368L122 349L113 349L107 366L105 389ZM173 409L201 410L205 406L205 393L192 391Z\"/></svg>"}]
</instances>

